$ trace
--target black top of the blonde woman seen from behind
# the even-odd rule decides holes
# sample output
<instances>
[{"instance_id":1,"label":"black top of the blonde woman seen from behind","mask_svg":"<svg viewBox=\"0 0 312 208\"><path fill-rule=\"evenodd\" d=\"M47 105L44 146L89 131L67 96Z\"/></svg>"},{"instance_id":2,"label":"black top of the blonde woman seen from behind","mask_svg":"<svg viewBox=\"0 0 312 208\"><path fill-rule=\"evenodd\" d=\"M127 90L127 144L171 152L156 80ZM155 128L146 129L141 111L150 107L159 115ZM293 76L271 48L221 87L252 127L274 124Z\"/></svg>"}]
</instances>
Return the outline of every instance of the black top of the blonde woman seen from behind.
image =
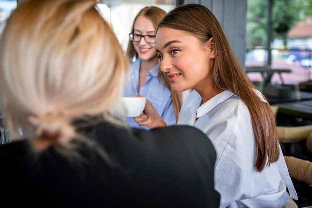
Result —
<instances>
[{"instance_id":1,"label":"black top of the blonde woman seen from behind","mask_svg":"<svg viewBox=\"0 0 312 208\"><path fill-rule=\"evenodd\" d=\"M28 143L0 146L1 202L32 208L218 208L216 152L190 126L138 130L101 123L84 128L114 165L91 147L83 160L53 147L36 158ZM93 147L94 148L94 147Z\"/></svg>"}]
</instances>

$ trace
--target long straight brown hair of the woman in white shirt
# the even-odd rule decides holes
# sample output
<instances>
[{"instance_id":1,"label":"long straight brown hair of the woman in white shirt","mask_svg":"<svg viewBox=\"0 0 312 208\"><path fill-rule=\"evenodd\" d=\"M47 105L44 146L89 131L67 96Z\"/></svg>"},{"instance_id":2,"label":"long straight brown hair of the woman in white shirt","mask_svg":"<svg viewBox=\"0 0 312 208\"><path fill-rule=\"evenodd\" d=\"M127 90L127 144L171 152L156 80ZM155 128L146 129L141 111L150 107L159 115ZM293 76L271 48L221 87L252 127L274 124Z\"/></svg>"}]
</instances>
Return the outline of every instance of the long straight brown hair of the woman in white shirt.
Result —
<instances>
[{"instance_id":1,"label":"long straight brown hair of the woman in white shirt","mask_svg":"<svg viewBox=\"0 0 312 208\"><path fill-rule=\"evenodd\" d=\"M268 102L255 93L255 86L235 57L226 35L213 13L200 4L185 4L170 11L160 27L183 30L195 35L202 43L213 37L215 60L212 87L217 91L230 90L248 107L255 140L258 146L255 168L264 167L278 160L279 143L275 117ZM267 162L268 161L268 162Z\"/></svg>"}]
</instances>

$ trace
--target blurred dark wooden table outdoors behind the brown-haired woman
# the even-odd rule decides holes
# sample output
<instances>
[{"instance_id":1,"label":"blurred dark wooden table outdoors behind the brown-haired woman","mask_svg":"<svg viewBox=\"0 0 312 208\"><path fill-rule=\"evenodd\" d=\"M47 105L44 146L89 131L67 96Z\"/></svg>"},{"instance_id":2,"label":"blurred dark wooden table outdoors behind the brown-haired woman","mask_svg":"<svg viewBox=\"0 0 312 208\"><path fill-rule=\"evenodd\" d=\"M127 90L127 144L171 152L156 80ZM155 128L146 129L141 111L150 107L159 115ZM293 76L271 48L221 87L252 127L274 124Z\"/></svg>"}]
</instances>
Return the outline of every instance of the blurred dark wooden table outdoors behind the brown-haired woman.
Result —
<instances>
[{"instance_id":1,"label":"blurred dark wooden table outdoors behind the brown-haired woman","mask_svg":"<svg viewBox=\"0 0 312 208\"><path fill-rule=\"evenodd\" d=\"M284 84L284 80L282 77L282 73L291 73L292 70L290 69L272 69L271 67L263 66L263 67L246 67L245 68L246 73L252 73L252 72L259 72L262 75L263 82L266 85L267 83L271 82L271 78L274 73L278 73L282 84Z\"/></svg>"}]
</instances>

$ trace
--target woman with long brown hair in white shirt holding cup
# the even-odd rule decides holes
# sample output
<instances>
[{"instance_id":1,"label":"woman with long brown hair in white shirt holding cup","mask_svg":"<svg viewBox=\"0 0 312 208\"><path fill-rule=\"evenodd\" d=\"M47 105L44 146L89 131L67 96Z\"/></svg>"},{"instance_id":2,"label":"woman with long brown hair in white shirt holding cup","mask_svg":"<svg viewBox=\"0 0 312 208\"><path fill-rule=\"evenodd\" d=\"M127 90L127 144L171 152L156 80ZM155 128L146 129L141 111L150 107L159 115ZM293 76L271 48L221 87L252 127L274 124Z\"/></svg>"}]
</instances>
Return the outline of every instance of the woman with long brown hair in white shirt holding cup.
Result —
<instances>
[{"instance_id":1,"label":"woman with long brown hair in white shirt holding cup","mask_svg":"<svg viewBox=\"0 0 312 208\"><path fill-rule=\"evenodd\" d=\"M158 24L156 47L172 90L193 89L177 124L195 126L211 138L220 208L282 208L287 188L296 199L270 105L213 13L200 4L173 9ZM148 101L135 121L150 128L164 125Z\"/></svg>"}]
</instances>

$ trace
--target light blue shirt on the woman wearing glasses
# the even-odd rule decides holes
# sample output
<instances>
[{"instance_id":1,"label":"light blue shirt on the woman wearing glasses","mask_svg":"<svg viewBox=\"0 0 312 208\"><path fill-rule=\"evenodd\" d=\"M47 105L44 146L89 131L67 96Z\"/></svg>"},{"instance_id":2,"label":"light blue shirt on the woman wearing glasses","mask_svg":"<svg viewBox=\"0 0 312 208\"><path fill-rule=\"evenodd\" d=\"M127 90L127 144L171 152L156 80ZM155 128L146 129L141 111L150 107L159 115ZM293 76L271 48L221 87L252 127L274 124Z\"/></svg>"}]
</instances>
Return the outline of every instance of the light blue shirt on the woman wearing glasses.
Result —
<instances>
[{"instance_id":1,"label":"light blue shirt on the woman wearing glasses","mask_svg":"<svg viewBox=\"0 0 312 208\"><path fill-rule=\"evenodd\" d=\"M158 64L146 74L147 80L138 91L140 64L141 59L139 58L131 63L130 80L125 83L124 96L144 95L156 108L158 114L161 115L168 126L175 125L176 118L171 92L158 80ZM132 117L127 117L127 122L131 127L149 129L146 126L135 123Z\"/></svg>"}]
</instances>

